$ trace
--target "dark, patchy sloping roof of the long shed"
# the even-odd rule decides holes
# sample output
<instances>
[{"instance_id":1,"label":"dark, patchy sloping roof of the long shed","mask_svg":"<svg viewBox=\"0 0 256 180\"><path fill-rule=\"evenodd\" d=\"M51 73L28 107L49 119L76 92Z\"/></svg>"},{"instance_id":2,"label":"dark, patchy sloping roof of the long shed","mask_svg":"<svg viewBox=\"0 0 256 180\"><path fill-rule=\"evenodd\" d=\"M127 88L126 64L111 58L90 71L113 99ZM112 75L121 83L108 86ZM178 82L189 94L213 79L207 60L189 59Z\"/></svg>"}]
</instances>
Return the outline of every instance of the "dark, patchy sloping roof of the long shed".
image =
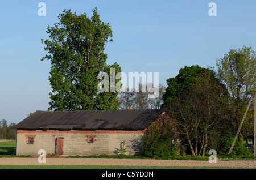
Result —
<instances>
[{"instance_id":1,"label":"dark, patchy sloping roof of the long shed","mask_svg":"<svg viewBox=\"0 0 256 180\"><path fill-rule=\"evenodd\" d=\"M143 130L164 112L146 110L36 111L18 123L18 129Z\"/></svg>"}]
</instances>

